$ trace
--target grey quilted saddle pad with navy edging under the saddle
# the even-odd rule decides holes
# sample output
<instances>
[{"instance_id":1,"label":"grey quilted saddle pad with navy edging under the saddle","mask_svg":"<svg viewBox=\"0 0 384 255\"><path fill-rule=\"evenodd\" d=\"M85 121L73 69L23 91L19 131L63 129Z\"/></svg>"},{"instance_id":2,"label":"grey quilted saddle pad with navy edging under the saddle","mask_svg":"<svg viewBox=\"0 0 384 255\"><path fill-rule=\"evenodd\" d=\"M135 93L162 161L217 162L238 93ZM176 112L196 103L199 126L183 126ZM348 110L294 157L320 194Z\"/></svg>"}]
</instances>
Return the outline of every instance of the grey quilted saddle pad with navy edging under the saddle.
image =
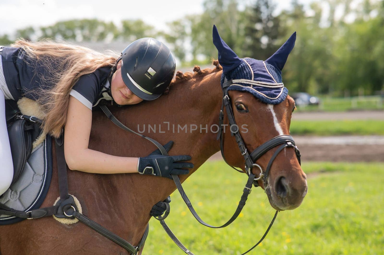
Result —
<instances>
[{"instance_id":1,"label":"grey quilted saddle pad with navy edging under the saddle","mask_svg":"<svg viewBox=\"0 0 384 255\"><path fill-rule=\"evenodd\" d=\"M52 177L52 140L47 136L31 153L20 178L0 198L0 203L19 211L40 208ZM0 225L12 224L23 219L0 215Z\"/></svg>"}]
</instances>

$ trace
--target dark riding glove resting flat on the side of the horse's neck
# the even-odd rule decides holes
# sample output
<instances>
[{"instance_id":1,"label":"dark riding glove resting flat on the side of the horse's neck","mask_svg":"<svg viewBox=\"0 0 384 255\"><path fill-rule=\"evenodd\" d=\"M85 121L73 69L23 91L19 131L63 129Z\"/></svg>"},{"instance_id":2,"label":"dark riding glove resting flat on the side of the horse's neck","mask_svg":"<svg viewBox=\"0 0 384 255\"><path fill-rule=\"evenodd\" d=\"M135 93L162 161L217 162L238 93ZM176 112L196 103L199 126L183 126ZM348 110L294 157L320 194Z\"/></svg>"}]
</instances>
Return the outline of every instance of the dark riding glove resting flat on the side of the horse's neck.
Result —
<instances>
[{"instance_id":1,"label":"dark riding glove resting flat on the side of the horse's neck","mask_svg":"<svg viewBox=\"0 0 384 255\"><path fill-rule=\"evenodd\" d=\"M164 148L166 148L167 152L170 150L172 145L172 141L164 145ZM161 155L160 150L155 150L147 157L139 158L139 162L137 163L137 172L141 174L150 174L172 179L170 176L171 174L185 175L189 173L189 170L181 168L194 167L192 163L179 162L187 160L191 160L189 155L163 156Z\"/></svg>"}]
</instances>

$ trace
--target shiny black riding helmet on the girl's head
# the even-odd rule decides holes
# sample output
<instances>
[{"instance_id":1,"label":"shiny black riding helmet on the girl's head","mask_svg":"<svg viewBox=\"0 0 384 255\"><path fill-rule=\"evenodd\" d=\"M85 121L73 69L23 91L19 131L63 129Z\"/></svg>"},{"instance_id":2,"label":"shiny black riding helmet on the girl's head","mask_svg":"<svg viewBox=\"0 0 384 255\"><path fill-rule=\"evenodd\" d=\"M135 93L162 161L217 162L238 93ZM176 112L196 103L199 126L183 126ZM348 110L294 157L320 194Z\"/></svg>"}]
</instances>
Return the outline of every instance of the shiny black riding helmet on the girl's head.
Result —
<instances>
[{"instance_id":1,"label":"shiny black riding helmet on the girl's head","mask_svg":"<svg viewBox=\"0 0 384 255\"><path fill-rule=\"evenodd\" d=\"M161 96L175 74L176 62L168 47L154 38L141 38L121 53L121 77L139 98Z\"/></svg>"}]
</instances>

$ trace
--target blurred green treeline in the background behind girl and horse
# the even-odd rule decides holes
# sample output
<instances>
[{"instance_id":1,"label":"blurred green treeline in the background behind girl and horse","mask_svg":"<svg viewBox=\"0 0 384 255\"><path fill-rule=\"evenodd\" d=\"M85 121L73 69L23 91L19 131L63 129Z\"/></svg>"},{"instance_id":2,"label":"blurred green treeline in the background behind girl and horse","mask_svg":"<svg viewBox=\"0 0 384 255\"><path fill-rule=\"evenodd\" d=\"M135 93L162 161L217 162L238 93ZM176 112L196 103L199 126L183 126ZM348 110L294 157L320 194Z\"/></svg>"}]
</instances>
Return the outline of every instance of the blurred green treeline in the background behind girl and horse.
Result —
<instances>
[{"instance_id":1,"label":"blurred green treeline in the background behind girl and horse","mask_svg":"<svg viewBox=\"0 0 384 255\"><path fill-rule=\"evenodd\" d=\"M162 36L182 62L191 53L192 64L208 64L217 58L213 24L238 56L262 60L297 31L296 46L283 70L290 92L357 95L362 89L371 94L384 88L384 0L313 0L308 5L292 0L290 8L278 15L275 3L205 0L203 13L170 22L167 33L158 33L142 20L124 20L118 29L112 22L84 19L39 29L26 27L16 36L77 41ZM12 37L0 36L0 44L10 43Z\"/></svg>"}]
</instances>

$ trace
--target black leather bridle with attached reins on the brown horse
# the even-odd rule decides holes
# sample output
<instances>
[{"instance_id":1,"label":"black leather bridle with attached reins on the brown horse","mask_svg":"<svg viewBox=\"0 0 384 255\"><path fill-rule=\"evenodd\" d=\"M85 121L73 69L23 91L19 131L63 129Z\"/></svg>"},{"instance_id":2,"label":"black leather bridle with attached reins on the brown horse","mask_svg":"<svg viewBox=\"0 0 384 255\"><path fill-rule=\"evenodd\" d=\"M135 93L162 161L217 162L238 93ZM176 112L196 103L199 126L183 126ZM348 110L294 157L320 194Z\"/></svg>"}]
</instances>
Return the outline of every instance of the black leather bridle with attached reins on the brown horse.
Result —
<instances>
[{"instance_id":1,"label":"black leather bridle with attached reins on the brown horse","mask_svg":"<svg viewBox=\"0 0 384 255\"><path fill-rule=\"evenodd\" d=\"M223 113L224 106L225 106L225 110L227 112L227 116L228 116L228 120L229 120L229 125L230 126L236 125L235 117L233 116L233 110L232 110L232 105L231 105L231 102L230 102L230 97L228 95L228 88L232 84L234 84L233 81L232 80L227 81L227 79L225 79L224 83L223 83L223 103L222 103L220 114L219 114L219 132L218 132L217 139L220 139L220 151L221 151L221 154L222 154L222 157L223 157L224 161L230 167L232 167L233 169L237 170L238 172L242 172L243 173L243 171L240 171L240 170L234 168L233 166L231 166L227 162L227 160L225 160L225 156L224 156L224 147L223 147L224 135L223 135L223 131L222 131L222 124L223 124L223 119L224 119L224 113ZM118 119L116 119L115 116L113 116L111 111L109 111L109 109L106 106L100 106L100 108L104 112L104 114L106 114L106 116L114 124L116 124L117 126L121 127L122 129L124 129L126 131L132 132L134 134L137 134L137 135L139 135L139 136L141 136L141 137L151 141L152 143L154 143L156 145L157 148L159 148L159 150L161 151L162 155L168 156L167 151L164 149L164 147L159 142L156 142L155 140L153 140L153 139L151 139L151 138L149 138L147 136L144 136L142 134L139 134L139 133L137 133L135 131L132 131L131 129L126 127ZM247 173L247 175L248 175L248 180L247 180L247 183L246 183L246 185L245 185L245 187L243 189L243 195L240 198L240 201L238 203L238 206L237 206L237 209L236 209L235 213L233 214L233 216L226 223L224 223L222 226L212 226L212 225L207 224L206 222L204 222L200 218L200 216L197 214L195 209L193 208L189 198L187 197L187 195L186 195L186 193L185 193L185 191L184 191L184 189L183 189L183 187L182 187L182 185L180 183L179 177L177 175L172 175L172 178L173 178L173 180L175 182L177 190L179 191L182 199L184 200L185 204L187 205L187 207L190 210L190 212L192 213L192 215L195 217L195 219L197 219L197 221L200 224L202 224L204 226L207 226L207 227L210 227L210 228L226 227L229 224L231 224L238 217L238 215L240 214L240 212L242 211L242 209L243 209L243 207L245 205L245 202L247 201L248 195L252 191L252 184L255 187L257 187L258 186L258 182L257 181L263 178L264 186L266 187L266 185L268 183L267 180L268 180L268 174L269 174L271 165L272 165L273 161L276 159L277 155L281 152L281 150L285 149L286 147L292 147L295 150L295 154L296 154L296 157L297 157L299 163L301 164L300 151L296 147L295 141L293 140L292 136L282 135L282 136L273 137L269 141L263 143L258 148L253 150L253 152L251 154L249 154L248 151L247 151L247 148L245 147L245 143L244 143L242 137L240 136L240 132L238 130L236 132L234 132L234 131L232 131L231 128L230 128L230 131L231 131L231 135L235 136L235 139L236 139L236 142L237 142L238 147L240 149L240 152L241 152L241 154L244 157L244 160L245 160L245 173ZM278 145L281 145L281 146L278 147L276 152L272 155L272 157L271 157L271 159L270 159L270 161L269 161L269 163L267 165L267 168L266 168L265 172L263 173L263 170L260 167L260 165L258 165L257 163L253 163L253 162L256 162L256 160L259 159L262 155L264 155L270 149L272 149L272 148L274 148L274 147L276 147ZM255 175L252 173L253 167L257 167L260 170L260 174L259 174L259 176L257 178L255 178ZM168 203L166 203L166 206L167 206L167 209L166 209L165 215L162 216L162 217L158 217L158 218L155 217L155 218L160 221L162 227L164 228L164 230L166 230L167 234L175 242L175 244L177 244L185 253L193 255L193 253L190 252L187 248L185 248L185 246L177 239L177 237L172 233L172 231L169 229L169 227L165 223L164 219L168 216L169 211L170 211ZM273 217L270 225L268 226L268 228L265 231L265 233L262 236L262 238L257 242L257 244L255 244L252 248L247 250L247 252L242 253L241 255L244 255L244 254L250 252L253 248L255 248L258 244L260 244L263 241L263 239L268 234L270 228L272 227L272 224L275 221L277 214L278 214L278 211L276 211L275 216Z\"/></svg>"}]
</instances>

